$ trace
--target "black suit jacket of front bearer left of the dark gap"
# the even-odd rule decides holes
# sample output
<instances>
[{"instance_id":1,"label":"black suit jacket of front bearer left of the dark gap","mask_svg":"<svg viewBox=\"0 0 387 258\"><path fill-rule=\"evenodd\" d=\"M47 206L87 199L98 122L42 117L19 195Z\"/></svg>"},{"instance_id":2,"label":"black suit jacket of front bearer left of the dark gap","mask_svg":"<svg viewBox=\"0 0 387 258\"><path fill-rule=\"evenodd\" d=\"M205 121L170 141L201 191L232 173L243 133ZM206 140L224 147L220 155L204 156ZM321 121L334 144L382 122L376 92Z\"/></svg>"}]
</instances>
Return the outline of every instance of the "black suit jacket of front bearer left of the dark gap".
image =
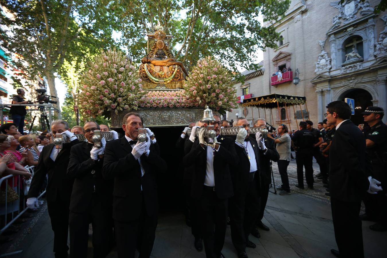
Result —
<instances>
[{"instance_id":1,"label":"black suit jacket of front bearer left of the dark gap","mask_svg":"<svg viewBox=\"0 0 387 258\"><path fill-rule=\"evenodd\" d=\"M139 161L131 154L132 147L125 136L106 143L102 174L105 179L114 178L113 219L122 222L139 219L142 194L147 214L157 213L156 177L166 170L166 162L156 152L154 144L149 150L148 157L145 154L140 157L145 171L141 176Z\"/></svg>"}]
</instances>

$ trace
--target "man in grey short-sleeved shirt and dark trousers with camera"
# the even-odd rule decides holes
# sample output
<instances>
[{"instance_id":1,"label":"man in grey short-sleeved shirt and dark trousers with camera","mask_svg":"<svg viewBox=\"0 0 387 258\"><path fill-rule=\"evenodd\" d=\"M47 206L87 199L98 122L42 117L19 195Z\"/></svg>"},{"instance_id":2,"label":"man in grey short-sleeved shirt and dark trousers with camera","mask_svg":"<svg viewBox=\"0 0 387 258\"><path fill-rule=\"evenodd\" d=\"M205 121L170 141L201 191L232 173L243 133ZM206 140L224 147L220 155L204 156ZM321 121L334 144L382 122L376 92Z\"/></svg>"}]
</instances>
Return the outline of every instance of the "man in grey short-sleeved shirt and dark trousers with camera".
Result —
<instances>
[{"instance_id":1,"label":"man in grey short-sleeved shirt and dark trousers with camera","mask_svg":"<svg viewBox=\"0 0 387 258\"><path fill-rule=\"evenodd\" d=\"M279 136L273 138L269 133L267 137L272 138L276 145L277 152L279 153L279 160L277 161L279 174L281 175L282 185L277 188L281 192L279 195L289 195L290 194L290 186L289 186L289 178L288 178L288 166L290 162L290 145L291 138L288 134L288 126L281 124L278 126L278 134Z\"/></svg>"}]
</instances>

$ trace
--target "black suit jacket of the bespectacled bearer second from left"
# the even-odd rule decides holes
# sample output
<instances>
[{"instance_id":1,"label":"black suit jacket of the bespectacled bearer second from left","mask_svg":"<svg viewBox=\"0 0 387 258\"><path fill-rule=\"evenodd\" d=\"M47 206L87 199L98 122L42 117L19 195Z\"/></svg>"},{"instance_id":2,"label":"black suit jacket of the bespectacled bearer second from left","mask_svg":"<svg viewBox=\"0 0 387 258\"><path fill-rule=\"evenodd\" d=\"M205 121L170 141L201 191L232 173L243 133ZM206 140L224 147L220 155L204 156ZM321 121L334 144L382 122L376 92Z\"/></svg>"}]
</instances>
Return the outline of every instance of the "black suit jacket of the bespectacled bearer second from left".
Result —
<instances>
[{"instance_id":1,"label":"black suit jacket of the bespectacled bearer second from left","mask_svg":"<svg viewBox=\"0 0 387 258\"><path fill-rule=\"evenodd\" d=\"M103 159L93 161L90 157L92 144L82 142L70 151L67 176L74 180L70 200L70 211L82 213L91 210L92 198L98 200L99 208L112 205L113 180L102 176Z\"/></svg>"}]
</instances>

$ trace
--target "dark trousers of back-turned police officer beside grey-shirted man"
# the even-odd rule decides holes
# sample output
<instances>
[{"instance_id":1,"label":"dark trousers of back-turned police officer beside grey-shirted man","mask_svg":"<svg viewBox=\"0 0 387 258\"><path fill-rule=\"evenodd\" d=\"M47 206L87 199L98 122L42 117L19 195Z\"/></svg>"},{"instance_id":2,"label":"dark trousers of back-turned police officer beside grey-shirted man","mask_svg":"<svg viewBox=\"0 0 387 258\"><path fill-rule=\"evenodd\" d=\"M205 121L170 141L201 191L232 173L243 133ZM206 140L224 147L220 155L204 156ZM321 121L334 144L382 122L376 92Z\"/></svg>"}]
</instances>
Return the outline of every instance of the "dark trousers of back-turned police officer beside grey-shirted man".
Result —
<instances>
[{"instance_id":1,"label":"dark trousers of back-turned police officer beside grey-shirted man","mask_svg":"<svg viewBox=\"0 0 387 258\"><path fill-rule=\"evenodd\" d=\"M308 186L313 186L313 155L312 150L299 150L296 152L297 180L299 186L304 186L304 166L305 179Z\"/></svg>"}]
</instances>

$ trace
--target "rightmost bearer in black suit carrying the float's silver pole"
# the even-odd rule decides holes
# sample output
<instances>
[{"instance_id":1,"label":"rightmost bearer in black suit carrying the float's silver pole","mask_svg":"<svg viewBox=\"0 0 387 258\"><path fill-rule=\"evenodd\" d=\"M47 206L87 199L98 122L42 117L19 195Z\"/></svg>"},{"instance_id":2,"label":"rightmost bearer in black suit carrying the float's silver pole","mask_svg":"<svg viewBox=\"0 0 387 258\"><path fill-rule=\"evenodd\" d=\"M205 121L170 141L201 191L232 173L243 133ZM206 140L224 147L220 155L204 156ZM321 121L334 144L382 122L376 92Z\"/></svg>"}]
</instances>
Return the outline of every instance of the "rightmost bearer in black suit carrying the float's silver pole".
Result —
<instances>
[{"instance_id":1,"label":"rightmost bearer in black suit carrying the float's silver pole","mask_svg":"<svg viewBox=\"0 0 387 258\"><path fill-rule=\"evenodd\" d=\"M254 124L255 127L263 127L266 128L266 120L263 118L258 118L257 121ZM265 224L262 223L262 219L264 217L264 211L267 203L267 198L269 197L269 188L271 184L271 162L277 162L279 160L279 154L276 149L276 144L274 143L274 140L265 137L263 138L262 135L258 134L256 135L258 148L259 148L259 165L260 165L260 208L259 208L259 214L256 220L256 225L260 227L263 230L269 231L269 227L267 227ZM257 178L256 178L257 180ZM252 229L252 235L255 237L260 237L259 231L257 228Z\"/></svg>"}]
</instances>

